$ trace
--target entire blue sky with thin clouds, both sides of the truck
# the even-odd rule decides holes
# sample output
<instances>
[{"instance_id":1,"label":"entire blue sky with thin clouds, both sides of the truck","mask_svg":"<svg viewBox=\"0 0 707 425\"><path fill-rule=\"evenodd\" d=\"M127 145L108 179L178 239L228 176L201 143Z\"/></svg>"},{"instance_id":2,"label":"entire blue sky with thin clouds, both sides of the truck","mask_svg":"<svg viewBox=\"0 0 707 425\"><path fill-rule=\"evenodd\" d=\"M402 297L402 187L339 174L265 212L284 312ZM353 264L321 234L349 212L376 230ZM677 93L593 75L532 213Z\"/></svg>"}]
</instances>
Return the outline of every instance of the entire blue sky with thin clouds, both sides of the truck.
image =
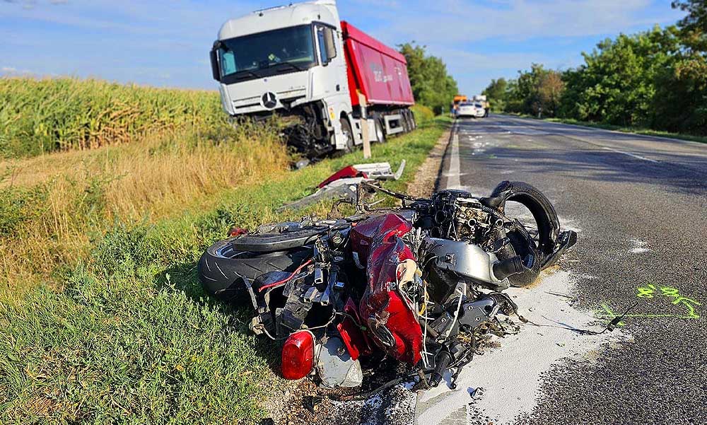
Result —
<instances>
[{"instance_id":1,"label":"entire blue sky with thin clouds, both sides of the truck","mask_svg":"<svg viewBox=\"0 0 707 425\"><path fill-rule=\"evenodd\" d=\"M213 89L208 52L221 23L283 3L0 0L0 74ZM467 94L532 62L577 66L605 37L682 16L670 0L339 0L339 13L389 45L426 45Z\"/></svg>"}]
</instances>

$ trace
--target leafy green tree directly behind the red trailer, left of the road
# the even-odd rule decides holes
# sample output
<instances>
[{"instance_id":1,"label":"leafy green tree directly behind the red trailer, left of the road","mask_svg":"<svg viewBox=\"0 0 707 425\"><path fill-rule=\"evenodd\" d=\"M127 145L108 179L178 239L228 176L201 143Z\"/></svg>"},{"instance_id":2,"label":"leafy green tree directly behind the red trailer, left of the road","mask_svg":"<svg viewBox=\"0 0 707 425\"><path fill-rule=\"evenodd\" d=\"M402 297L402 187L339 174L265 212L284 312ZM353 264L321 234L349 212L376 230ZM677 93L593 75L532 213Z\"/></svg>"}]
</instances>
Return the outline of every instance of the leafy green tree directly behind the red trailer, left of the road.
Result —
<instances>
[{"instance_id":1,"label":"leafy green tree directly behind the red trailer, left of the road","mask_svg":"<svg viewBox=\"0 0 707 425\"><path fill-rule=\"evenodd\" d=\"M426 47L415 42L398 46L407 60L407 72L415 101L444 112L457 94L457 81L448 74L447 66L439 57L426 53Z\"/></svg>"}]
</instances>

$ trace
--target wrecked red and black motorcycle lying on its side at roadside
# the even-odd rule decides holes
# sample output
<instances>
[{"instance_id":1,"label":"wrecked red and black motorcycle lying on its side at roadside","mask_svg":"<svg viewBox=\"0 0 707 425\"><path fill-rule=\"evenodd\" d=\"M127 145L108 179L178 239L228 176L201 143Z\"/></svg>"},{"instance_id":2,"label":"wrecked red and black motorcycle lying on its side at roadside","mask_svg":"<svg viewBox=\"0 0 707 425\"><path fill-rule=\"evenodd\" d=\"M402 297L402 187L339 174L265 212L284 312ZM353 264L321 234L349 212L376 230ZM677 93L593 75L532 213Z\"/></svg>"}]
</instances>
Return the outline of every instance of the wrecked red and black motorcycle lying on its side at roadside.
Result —
<instances>
[{"instance_id":1,"label":"wrecked red and black motorcycle lying on its side at roadside","mask_svg":"<svg viewBox=\"0 0 707 425\"><path fill-rule=\"evenodd\" d=\"M402 206L373 209L366 190ZM199 261L206 291L252 305L252 331L282 342L284 378L357 387L361 360L390 356L416 368L418 388L448 371L453 387L484 325L518 315L503 291L532 284L577 240L523 182L501 182L489 197L442 190L416 199L366 182L357 191L353 216L238 232ZM508 202L534 224L507 216Z\"/></svg>"}]
</instances>

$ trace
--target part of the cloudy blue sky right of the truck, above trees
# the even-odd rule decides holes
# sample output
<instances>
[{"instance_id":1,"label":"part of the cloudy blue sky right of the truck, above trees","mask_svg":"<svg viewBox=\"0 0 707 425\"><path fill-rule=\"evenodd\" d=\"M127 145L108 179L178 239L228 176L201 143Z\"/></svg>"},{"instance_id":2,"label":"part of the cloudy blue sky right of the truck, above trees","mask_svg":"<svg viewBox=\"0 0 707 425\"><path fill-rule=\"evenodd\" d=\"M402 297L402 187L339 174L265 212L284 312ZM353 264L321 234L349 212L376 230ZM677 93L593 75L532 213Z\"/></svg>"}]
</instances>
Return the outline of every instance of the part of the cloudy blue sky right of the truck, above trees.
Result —
<instances>
[{"instance_id":1,"label":"part of the cloudy blue sky right of the truck, above trees","mask_svg":"<svg viewBox=\"0 0 707 425\"><path fill-rule=\"evenodd\" d=\"M345 8L346 13L362 9ZM515 77L533 62L551 69L577 66L580 52L593 47L587 38L598 42L672 24L682 14L670 2L656 0L410 0L379 6L366 16L372 35L389 45L408 40L426 45L442 57L460 90L472 93L491 78Z\"/></svg>"}]
</instances>

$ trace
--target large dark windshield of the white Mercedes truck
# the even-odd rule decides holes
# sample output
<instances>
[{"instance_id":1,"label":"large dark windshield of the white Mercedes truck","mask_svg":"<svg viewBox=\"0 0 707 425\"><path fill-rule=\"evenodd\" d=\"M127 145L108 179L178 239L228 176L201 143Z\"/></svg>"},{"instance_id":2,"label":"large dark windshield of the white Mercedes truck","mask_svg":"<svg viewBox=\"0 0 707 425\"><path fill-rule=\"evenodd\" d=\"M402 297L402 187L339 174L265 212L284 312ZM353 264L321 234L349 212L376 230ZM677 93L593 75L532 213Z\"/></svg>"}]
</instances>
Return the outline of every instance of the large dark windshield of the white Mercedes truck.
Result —
<instances>
[{"instance_id":1,"label":"large dark windshield of the white Mercedes truck","mask_svg":"<svg viewBox=\"0 0 707 425\"><path fill-rule=\"evenodd\" d=\"M316 62L311 25L281 28L221 41L222 83L302 71Z\"/></svg>"}]
</instances>

